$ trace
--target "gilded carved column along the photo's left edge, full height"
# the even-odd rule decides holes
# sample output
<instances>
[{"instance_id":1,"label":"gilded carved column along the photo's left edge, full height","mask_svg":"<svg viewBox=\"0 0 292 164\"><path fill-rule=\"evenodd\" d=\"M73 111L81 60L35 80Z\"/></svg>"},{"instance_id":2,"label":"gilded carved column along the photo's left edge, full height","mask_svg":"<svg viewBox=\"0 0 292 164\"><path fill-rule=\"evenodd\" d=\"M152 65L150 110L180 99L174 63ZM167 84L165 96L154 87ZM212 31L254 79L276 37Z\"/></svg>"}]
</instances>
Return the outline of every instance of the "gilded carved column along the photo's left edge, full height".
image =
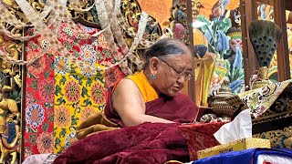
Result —
<instances>
[{"instance_id":1,"label":"gilded carved column along the photo's left edge, full height","mask_svg":"<svg viewBox=\"0 0 292 164\"><path fill-rule=\"evenodd\" d=\"M14 0L3 1L9 12L17 15L23 23L27 23L25 16L18 11ZM0 19L0 26L4 26L15 36L22 36L23 29L9 25ZM19 60L23 43L12 40L0 33L0 50L7 56ZM21 149L21 67L6 62L0 58L0 163L19 163ZM17 85L17 86L16 86ZM13 98L12 98L13 97ZM8 158L9 156L9 158Z\"/></svg>"}]
</instances>

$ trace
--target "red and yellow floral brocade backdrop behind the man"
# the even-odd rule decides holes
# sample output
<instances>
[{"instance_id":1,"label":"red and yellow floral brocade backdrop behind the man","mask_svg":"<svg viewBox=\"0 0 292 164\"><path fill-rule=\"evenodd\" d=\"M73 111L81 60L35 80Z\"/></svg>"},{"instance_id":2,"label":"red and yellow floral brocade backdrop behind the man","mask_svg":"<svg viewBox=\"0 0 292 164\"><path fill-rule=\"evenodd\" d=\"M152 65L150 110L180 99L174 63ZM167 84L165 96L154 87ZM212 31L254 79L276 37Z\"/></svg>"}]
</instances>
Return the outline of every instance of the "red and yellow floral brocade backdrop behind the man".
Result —
<instances>
[{"instance_id":1,"label":"red and yellow floral brocade backdrop behind the man","mask_svg":"<svg viewBox=\"0 0 292 164\"><path fill-rule=\"evenodd\" d=\"M78 27L90 35L99 31ZM85 65L109 66L115 62L104 36L82 39L77 32L62 24L58 39ZM46 41L40 36L29 40L26 58L39 56L44 43ZM67 149L76 139L78 125L94 111L103 110L107 88L124 77L119 67L91 70L68 62L53 50L47 54L27 67L25 157Z\"/></svg>"}]
</instances>

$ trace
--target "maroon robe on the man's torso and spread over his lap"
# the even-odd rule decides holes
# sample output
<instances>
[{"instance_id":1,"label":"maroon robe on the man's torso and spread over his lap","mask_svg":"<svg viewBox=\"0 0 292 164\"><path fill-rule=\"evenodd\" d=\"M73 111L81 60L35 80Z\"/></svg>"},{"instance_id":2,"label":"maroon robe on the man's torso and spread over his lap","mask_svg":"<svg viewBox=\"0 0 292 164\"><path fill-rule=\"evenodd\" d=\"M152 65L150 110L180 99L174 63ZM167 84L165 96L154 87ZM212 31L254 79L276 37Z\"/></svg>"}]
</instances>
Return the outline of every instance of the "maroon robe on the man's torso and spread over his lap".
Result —
<instances>
[{"instance_id":1,"label":"maroon robe on the man's torso and spread over his lap","mask_svg":"<svg viewBox=\"0 0 292 164\"><path fill-rule=\"evenodd\" d=\"M110 100L110 98L109 98ZM120 126L119 115L107 104L105 113L111 121ZM178 94L176 97L159 97L146 103L146 114L169 119L177 123L143 123L138 126L100 132L78 140L64 150L54 164L65 163L165 163L169 160L190 161L186 139L178 124L192 122L197 108L193 101ZM193 128L194 134L202 134L197 139L197 149L206 149L217 144L213 134L220 125L201 125ZM194 138L196 136L193 136ZM201 144L208 138L208 142ZM202 145L202 146L201 146ZM201 148L202 147L202 148Z\"/></svg>"}]
</instances>

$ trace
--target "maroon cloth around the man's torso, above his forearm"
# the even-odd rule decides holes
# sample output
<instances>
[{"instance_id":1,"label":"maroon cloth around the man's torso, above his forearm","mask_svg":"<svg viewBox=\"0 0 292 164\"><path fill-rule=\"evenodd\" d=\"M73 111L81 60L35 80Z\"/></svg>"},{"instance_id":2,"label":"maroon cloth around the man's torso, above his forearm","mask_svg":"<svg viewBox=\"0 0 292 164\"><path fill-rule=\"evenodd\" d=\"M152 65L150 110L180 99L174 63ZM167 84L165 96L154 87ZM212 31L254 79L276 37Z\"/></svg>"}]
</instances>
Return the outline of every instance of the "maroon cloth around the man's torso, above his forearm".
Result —
<instances>
[{"instance_id":1,"label":"maroon cloth around the man's torso, above his forearm","mask_svg":"<svg viewBox=\"0 0 292 164\"><path fill-rule=\"evenodd\" d=\"M111 92L110 92L111 93ZM178 123L191 123L197 117L198 108L192 99L182 93L175 97L161 95L145 104L146 115L172 120ZM125 127L115 108L111 105L111 94L109 94L104 114L110 121Z\"/></svg>"}]
</instances>

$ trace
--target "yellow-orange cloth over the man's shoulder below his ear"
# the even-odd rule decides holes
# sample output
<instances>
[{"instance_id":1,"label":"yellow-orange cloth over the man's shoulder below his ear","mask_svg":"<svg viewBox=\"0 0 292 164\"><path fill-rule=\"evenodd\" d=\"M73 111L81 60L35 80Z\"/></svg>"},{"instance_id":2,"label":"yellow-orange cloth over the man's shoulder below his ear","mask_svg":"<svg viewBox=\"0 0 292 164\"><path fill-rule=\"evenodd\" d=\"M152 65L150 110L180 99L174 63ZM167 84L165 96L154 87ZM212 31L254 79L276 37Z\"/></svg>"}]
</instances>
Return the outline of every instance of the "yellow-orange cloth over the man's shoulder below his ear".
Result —
<instances>
[{"instance_id":1,"label":"yellow-orange cloth over the man's shoulder below his ear","mask_svg":"<svg viewBox=\"0 0 292 164\"><path fill-rule=\"evenodd\" d=\"M151 86L143 71L127 78L131 79L139 87L145 103L158 98L157 92Z\"/></svg>"}]
</instances>

